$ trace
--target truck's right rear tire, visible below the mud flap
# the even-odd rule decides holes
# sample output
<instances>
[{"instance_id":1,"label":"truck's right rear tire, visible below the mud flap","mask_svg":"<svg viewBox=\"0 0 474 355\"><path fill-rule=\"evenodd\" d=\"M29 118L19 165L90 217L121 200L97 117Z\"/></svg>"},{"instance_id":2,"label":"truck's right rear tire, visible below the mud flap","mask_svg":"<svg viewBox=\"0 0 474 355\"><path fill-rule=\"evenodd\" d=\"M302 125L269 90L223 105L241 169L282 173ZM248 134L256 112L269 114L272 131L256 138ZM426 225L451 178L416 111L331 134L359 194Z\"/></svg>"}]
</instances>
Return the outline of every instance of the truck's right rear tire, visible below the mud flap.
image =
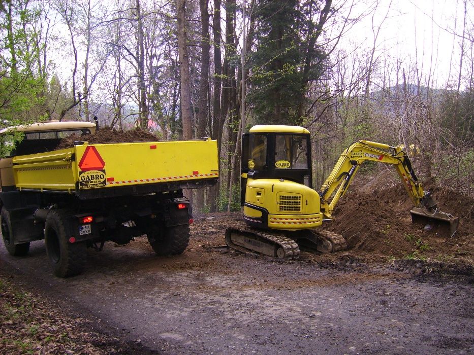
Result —
<instances>
[{"instance_id":1,"label":"truck's right rear tire, visible below the mud flap","mask_svg":"<svg viewBox=\"0 0 474 355\"><path fill-rule=\"evenodd\" d=\"M189 242L188 224L163 226L160 233L156 230L158 228L148 235L148 241L157 255L178 255L184 252Z\"/></svg>"}]
</instances>

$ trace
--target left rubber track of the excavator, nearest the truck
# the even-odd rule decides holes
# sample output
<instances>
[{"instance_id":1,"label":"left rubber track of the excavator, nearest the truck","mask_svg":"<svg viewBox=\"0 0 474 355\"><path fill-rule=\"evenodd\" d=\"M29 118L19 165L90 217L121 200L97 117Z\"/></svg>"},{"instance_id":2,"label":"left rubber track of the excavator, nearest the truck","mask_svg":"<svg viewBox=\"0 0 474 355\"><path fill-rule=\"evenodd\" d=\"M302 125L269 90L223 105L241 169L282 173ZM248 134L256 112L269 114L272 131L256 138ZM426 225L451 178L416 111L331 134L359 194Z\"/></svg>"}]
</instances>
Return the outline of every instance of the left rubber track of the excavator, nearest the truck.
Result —
<instances>
[{"instance_id":1,"label":"left rubber track of the excavator, nearest the truck","mask_svg":"<svg viewBox=\"0 0 474 355\"><path fill-rule=\"evenodd\" d=\"M269 231L262 231L259 229L251 228L243 223L236 224L232 227L227 228L226 230L227 245L229 245L229 247L235 250L238 250L240 252L257 253L255 251L244 248L240 245L235 245L231 241L231 238L230 238L230 235L232 232L243 232L243 233L253 234L262 239L266 239L272 242L273 244L280 246L281 248L283 248L283 251L285 251L285 257L282 258L283 260L296 260L300 257L300 247L298 246L296 241L294 241L293 239L284 237L279 233L273 233Z\"/></svg>"}]
</instances>

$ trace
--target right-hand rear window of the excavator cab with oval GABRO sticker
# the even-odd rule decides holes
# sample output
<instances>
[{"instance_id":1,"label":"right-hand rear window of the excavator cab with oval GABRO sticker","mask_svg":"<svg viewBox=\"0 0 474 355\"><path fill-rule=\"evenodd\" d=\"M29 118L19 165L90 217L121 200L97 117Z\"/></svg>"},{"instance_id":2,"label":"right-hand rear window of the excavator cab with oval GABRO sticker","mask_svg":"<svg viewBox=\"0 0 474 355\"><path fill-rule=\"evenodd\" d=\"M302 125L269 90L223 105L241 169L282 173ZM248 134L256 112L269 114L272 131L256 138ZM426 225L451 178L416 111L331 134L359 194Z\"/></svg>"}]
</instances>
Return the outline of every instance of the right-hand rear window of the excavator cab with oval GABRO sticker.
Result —
<instances>
[{"instance_id":1,"label":"right-hand rear window of the excavator cab with oval GABRO sticker","mask_svg":"<svg viewBox=\"0 0 474 355\"><path fill-rule=\"evenodd\" d=\"M276 169L307 169L306 135L277 134L275 137Z\"/></svg>"}]
</instances>

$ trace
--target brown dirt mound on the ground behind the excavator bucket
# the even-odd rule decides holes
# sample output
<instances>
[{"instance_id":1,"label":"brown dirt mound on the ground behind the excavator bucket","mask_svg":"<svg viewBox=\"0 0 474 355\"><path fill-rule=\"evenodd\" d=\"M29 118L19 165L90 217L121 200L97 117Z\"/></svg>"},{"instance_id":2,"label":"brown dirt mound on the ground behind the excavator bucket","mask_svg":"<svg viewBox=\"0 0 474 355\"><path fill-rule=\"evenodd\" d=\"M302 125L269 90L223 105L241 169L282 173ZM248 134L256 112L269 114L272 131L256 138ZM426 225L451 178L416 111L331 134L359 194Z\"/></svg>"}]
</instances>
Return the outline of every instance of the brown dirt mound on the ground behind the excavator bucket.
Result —
<instances>
[{"instance_id":1,"label":"brown dirt mound on the ground behind the excavator bucket","mask_svg":"<svg viewBox=\"0 0 474 355\"><path fill-rule=\"evenodd\" d=\"M336 221L328 229L344 235L353 253L414 259L474 257L474 199L432 183L426 186L430 187L441 211L460 217L458 231L453 237L413 224L409 214L413 204L400 184L381 190L361 192L363 189L358 189L347 193L339 201L334 211Z\"/></svg>"}]
</instances>

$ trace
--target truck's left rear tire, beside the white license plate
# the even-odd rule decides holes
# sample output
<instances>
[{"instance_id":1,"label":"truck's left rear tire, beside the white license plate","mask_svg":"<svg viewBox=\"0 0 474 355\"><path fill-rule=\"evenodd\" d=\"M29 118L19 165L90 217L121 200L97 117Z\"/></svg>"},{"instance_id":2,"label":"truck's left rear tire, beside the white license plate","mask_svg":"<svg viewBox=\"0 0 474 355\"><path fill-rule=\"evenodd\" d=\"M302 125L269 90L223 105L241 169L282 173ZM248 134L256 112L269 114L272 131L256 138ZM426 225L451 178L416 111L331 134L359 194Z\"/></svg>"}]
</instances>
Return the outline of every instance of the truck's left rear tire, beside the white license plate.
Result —
<instances>
[{"instance_id":1,"label":"truck's left rear tire, beside the white license plate","mask_svg":"<svg viewBox=\"0 0 474 355\"><path fill-rule=\"evenodd\" d=\"M87 246L83 242L69 242L68 214L64 209L49 211L45 222L45 245L54 275L69 277L84 269Z\"/></svg>"}]
</instances>

